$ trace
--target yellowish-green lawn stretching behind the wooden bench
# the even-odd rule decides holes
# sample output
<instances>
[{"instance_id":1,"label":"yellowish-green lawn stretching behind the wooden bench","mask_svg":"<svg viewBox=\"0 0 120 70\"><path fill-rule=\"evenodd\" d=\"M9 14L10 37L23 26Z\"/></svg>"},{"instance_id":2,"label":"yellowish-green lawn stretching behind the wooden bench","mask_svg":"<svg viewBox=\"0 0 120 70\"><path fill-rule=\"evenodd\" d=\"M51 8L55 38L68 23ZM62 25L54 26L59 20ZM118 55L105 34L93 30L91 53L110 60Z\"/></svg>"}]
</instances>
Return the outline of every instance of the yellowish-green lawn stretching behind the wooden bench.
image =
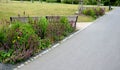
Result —
<instances>
[{"instance_id":1,"label":"yellowish-green lawn stretching behind the wooden bench","mask_svg":"<svg viewBox=\"0 0 120 70\"><path fill-rule=\"evenodd\" d=\"M10 16L45 16L45 15L74 15L78 10L78 5L60 3L39 3L10 1L0 3L0 19L9 19ZM79 22L90 22L94 18L89 16L79 16Z\"/></svg>"}]
</instances>

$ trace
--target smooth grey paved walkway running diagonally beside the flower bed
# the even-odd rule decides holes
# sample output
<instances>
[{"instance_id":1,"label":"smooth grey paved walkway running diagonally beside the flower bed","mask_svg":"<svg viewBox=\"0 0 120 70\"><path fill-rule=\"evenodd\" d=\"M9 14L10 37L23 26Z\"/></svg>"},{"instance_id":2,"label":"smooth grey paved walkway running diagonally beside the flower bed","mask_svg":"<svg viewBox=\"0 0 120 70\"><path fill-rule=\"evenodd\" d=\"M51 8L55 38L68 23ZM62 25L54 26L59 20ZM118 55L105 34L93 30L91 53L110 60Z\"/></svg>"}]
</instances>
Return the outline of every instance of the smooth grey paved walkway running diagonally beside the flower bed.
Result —
<instances>
[{"instance_id":1,"label":"smooth grey paved walkway running diagonally beside the flower bed","mask_svg":"<svg viewBox=\"0 0 120 70\"><path fill-rule=\"evenodd\" d=\"M120 8L19 70L120 70Z\"/></svg>"}]
</instances>

